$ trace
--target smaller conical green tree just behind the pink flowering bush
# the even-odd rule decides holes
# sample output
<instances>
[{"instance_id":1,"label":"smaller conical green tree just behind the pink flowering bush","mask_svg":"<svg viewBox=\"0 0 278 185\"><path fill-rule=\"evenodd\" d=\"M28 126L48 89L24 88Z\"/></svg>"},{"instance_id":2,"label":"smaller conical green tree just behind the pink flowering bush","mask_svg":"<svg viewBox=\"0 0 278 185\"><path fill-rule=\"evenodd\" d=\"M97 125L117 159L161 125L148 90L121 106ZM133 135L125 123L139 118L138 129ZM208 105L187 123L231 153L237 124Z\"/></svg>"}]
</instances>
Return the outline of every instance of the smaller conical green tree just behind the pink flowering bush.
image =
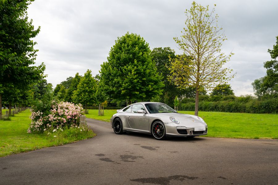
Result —
<instances>
[{"instance_id":1,"label":"smaller conical green tree just behind the pink flowering bush","mask_svg":"<svg viewBox=\"0 0 278 185\"><path fill-rule=\"evenodd\" d=\"M91 70L87 70L81 78L77 89L73 92L73 100L75 103L85 105L85 111L88 104L95 103L95 93L97 90L96 80L92 77Z\"/></svg>"}]
</instances>

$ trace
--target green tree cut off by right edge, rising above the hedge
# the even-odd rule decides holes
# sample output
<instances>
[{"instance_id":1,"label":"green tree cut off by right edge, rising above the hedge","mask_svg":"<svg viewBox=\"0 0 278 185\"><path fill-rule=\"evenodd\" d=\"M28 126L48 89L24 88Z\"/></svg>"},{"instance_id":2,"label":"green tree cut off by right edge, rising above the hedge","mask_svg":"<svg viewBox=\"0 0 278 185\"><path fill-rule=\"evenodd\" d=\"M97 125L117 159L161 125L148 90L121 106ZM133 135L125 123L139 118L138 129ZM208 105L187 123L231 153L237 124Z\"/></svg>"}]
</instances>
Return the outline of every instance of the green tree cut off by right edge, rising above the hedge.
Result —
<instances>
[{"instance_id":1,"label":"green tree cut off by right edge, rising above the hedge","mask_svg":"<svg viewBox=\"0 0 278 185\"><path fill-rule=\"evenodd\" d=\"M267 69L267 75L252 83L254 94L259 98L278 97L278 36L276 37L276 45L273 45L272 50L268 49L268 53L272 60L263 65Z\"/></svg>"}]
</instances>

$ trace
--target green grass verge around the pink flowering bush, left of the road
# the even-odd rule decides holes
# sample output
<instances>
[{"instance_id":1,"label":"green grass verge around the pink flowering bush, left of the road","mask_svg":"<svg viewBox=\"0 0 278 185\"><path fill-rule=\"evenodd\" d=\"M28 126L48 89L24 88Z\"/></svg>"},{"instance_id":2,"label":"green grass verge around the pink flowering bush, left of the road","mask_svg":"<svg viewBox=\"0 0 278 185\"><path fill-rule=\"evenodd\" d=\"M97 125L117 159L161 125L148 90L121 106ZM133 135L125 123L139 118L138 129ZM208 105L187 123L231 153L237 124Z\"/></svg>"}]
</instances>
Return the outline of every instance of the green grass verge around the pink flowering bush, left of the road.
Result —
<instances>
[{"instance_id":1,"label":"green grass verge around the pink flowering bush, left of the road","mask_svg":"<svg viewBox=\"0 0 278 185\"><path fill-rule=\"evenodd\" d=\"M27 109L15 114L14 117L10 117L11 121L0 120L0 157L44 147L63 145L95 136L91 130L85 129L82 132L77 128L49 134L47 132L43 134L28 134L27 129L31 122L30 115L30 109Z\"/></svg>"}]
</instances>

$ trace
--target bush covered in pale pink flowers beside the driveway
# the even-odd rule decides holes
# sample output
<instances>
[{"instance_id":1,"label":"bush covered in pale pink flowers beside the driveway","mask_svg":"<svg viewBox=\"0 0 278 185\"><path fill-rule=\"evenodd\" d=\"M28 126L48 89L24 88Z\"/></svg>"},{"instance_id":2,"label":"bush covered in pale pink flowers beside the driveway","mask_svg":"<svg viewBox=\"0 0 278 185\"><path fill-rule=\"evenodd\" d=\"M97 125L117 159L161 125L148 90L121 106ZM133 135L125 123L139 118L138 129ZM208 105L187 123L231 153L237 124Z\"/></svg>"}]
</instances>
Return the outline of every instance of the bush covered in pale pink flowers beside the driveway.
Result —
<instances>
[{"instance_id":1,"label":"bush covered in pale pink flowers beside the driveway","mask_svg":"<svg viewBox=\"0 0 278 185\"><path fill-rule=\"evenodd\" d=\"M53 101L52 109L48 112L41 112L33 110L30 116L32 122L27 132L31 133L34 131L43 132L50 128L61 129L64 127L70 128L79 125L79 116L83 113L81 104L74 105L69 102L55 102ZM53 130L53 132L55 132ZM62 129L61 129L62 130Z\"/></svg>"}]
</instances>

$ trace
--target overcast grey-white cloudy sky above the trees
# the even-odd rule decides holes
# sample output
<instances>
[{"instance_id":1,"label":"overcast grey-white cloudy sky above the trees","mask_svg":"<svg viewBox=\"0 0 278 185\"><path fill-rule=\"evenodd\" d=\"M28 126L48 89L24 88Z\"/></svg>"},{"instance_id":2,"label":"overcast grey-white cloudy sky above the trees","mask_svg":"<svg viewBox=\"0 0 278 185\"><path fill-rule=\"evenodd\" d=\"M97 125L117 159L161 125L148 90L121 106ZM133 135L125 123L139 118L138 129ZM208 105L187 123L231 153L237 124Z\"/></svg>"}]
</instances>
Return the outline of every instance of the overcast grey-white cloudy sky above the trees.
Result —
<instances>
[{"instance_id":1,"label":"overcast grey-white cloudy sky above the trees","mask_svg":"<svg viewBox=\"0 0 278 185\"><path fill-rule=\"evenodd\" d=\"M235 95L253 94L251 83L265 76L263 62L270 60L278 35L278 1L197 0L210 6L216 4L218 24L227 41L223 51L234 56L226 66L237 72L231 84ZM187 0L36 0L28 9L35 28L41 26L37 64L44 62L47 81L53 88L67 77L87 69L93 76L117 37L136 33L155 47L171 47L180 54L173 37L179 37L185 27Z\"/></svg>"}]
</instances>

